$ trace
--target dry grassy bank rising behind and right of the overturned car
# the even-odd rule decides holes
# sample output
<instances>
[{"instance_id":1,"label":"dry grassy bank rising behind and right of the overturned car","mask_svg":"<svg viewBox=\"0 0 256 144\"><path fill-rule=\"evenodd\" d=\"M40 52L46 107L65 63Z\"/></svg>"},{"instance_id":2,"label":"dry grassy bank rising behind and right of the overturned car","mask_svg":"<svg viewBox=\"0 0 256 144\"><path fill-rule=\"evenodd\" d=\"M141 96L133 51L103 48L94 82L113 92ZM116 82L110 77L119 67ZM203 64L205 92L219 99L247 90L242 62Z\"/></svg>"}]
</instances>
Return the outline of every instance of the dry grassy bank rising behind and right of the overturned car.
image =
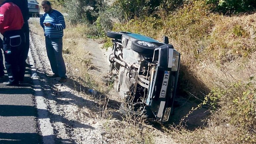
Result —
<instances>
[{"instance_id":1,"label":"dry grassy bank rising behind and right of the overturned car","mask_svg":"<svg viewBox=\"0 0 256 144\"><path fill-rule=\"evenodd\" d=\"M218 109L207 120L208 126L195 131L167 128L176 142L255 143L256 130L252 127L256 126L256 14L223 17L208 13L203 3L193 1L168 17L159 12L163 18L154 23L160 29L152 29L152 25L142 20L115 29L158 40L167 35L182 54L179 75L182 91L201 99L211 92L208 99L213 101L208 102L217 104Z\"/></svg>"}]
</instances>

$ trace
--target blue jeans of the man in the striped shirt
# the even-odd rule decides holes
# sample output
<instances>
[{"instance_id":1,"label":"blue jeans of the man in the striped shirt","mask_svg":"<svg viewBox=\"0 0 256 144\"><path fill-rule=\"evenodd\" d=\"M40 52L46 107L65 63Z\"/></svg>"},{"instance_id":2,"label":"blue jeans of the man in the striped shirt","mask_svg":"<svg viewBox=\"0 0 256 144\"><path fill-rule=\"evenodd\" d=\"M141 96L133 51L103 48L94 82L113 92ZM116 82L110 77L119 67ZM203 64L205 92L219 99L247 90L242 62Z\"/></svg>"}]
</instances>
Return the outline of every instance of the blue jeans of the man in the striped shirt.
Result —
<instances>
[{"instance_id":1,"label":"blue jeans of the man in the striped shirt","mask_svg":"<svg viewBox=\"0 0 256 144\"><path fill-rule=\"evenodd\" d=\"M46 52L54 74L61 78L66 77L66 66L62 57L62 38L45 37Z\"/></svg>"}]
</instances>

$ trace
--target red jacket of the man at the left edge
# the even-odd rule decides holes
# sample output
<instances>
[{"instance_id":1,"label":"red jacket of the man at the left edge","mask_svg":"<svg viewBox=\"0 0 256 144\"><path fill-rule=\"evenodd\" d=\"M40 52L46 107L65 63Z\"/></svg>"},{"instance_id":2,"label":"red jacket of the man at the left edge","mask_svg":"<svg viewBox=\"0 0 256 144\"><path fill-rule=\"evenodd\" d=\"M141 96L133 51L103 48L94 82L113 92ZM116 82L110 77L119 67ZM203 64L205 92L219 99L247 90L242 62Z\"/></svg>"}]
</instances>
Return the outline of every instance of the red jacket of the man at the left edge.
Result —
<instances>
[{"instance_id":1,"label":"red jacket of the man at the left edge","mask_svg":"<svg viewBox=\"0 0 256 144\"><path fill-rule=\"evenodd\" d=\"M0 33L5 31L20 30L24 24L20 8L9 2L0 7Z\"/></svg>"}]
</instances>

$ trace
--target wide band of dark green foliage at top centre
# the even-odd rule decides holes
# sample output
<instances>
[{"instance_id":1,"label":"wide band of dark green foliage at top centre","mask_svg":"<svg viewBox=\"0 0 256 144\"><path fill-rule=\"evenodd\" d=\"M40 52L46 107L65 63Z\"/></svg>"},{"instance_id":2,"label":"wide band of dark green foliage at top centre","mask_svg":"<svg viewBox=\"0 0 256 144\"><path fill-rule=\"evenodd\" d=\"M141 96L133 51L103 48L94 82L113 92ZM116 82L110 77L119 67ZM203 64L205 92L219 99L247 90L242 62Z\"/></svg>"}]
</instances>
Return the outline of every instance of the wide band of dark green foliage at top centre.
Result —
<instances>
[{"instance_id":1,"label":"wide band of dark green foliage at top centre","mask_svg":"<svg viewBox=\"0 0 256 144\"><path fill-rule=\"evenodd\" d=\"M171 12L181 6L183 1L186 0L116 0L112 5L107 5L104 0L57 0L67 10L72 23L90 24L97 21L98 17L101 21L102 18L110 17L121 18L119 20L123 21L151 16L158 10Z\"/></svg>"}]
</instances>

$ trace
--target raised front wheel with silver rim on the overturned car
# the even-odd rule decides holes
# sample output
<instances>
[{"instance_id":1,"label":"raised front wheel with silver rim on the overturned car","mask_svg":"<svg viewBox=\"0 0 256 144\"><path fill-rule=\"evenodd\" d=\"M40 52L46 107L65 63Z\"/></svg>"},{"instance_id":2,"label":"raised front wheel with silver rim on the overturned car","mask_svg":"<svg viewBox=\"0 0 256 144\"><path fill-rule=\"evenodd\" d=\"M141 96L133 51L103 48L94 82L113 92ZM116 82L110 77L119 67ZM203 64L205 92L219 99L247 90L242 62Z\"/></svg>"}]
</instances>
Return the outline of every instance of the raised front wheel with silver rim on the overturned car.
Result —
<instances>
[{"instance_id":1,"label":"raised front wheel with silver rim on the overturned car","mask_svg":"<svg viewBox=\"0 0 256 144\"><path fill-rule=\"evenodd\" d=\"M154 49L157 48L158 45L150 42L145 42L142 40L132 41L131 49L140 54L153 55Z\"/></svg>"}]
</instances>

